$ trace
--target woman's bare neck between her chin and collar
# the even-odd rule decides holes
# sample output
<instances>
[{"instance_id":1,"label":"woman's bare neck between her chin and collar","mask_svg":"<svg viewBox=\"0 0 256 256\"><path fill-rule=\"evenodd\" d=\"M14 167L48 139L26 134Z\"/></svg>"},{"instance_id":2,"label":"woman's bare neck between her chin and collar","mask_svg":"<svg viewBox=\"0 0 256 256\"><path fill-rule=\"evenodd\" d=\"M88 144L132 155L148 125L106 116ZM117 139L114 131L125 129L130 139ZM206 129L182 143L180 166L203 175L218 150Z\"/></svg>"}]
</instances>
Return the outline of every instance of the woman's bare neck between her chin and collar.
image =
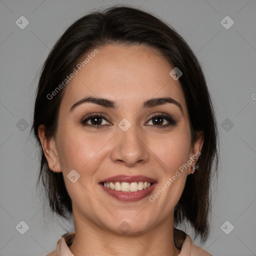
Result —
<instances>
[{"instance_id":1,"label":"woman's bare neck between her chin and collar","mask_svg":"<svg viewBox=\"0 0 256 256\"><path fill-rule=\"evenodd\" d=\"M73 215L79 219L74 212ZM147 232L120 235L91 221L74 221L75 237L69 249L75 256L177 256L180 250L174 244L173 223L172 214Z\"/></svg>"}]
</instances>

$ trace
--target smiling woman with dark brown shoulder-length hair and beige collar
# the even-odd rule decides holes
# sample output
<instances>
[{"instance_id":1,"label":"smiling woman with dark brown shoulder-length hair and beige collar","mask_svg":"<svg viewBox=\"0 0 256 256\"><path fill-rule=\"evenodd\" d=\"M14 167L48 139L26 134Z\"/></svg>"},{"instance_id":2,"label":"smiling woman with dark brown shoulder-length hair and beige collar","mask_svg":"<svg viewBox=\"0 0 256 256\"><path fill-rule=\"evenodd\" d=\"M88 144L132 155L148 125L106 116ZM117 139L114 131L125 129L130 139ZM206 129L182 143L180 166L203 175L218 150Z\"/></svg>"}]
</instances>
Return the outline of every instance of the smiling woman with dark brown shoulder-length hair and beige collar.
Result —
<instances>
[{"instance_id":1,"label":"smiling woman with dark brown shoulder-length hair and beige collar","mask_svg":"<svg viewBox=\"0 0 256 256\"><path fill-rule=\"evenodd\" d=\"M208 237L218 135L200 65L173 28L125 6L85 15L36 93L37 184L75 227L48 255L210 255L176 228Z\"/></svg>"}]
</instances>

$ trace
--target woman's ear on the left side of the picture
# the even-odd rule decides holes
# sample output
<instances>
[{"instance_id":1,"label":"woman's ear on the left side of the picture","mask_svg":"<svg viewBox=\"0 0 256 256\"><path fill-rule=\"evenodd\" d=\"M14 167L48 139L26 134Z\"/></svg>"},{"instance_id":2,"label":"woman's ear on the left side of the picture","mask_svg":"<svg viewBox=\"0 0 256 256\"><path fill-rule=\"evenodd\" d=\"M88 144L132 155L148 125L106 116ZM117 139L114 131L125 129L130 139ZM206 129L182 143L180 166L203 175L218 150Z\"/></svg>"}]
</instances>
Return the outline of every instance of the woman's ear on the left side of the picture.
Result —
<instances>
[{"instance_id":1,"label":"woman's ear on the left side of the picture","mask_svg":"<svg viewBox=\"0 0 256 256\"><path fill-rule=\"evenodd\" d=\"M55 168L55 172L61 172L55 140L53 137L50 137L50 138L45 137L44 124L39 125L38 135L39 135L41 145L42 145L42 150L47 159L49 168L51 170Z\"/></svg>"}]
</instances>

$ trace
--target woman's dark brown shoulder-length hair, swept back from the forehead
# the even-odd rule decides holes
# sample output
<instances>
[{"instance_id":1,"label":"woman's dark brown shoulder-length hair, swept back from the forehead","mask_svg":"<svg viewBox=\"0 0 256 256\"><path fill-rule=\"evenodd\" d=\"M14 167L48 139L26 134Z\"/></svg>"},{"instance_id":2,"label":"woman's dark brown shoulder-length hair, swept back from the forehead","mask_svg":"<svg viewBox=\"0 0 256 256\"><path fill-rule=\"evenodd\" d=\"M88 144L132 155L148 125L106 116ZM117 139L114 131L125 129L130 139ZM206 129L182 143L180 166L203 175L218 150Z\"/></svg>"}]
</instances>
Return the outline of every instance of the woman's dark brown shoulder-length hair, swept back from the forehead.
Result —
<instances>
[{"instance_id":1,"label":"woman's dark brown shoulder-length hair, swept back from the forehead","mask_svg":"<svg viewBox=\"0 0 256 256\"><path fill-rule=\"evenodd\" d=\"M182 37L154 15L128 6L94 11L75 21L57 40L40 73L34 105L33 134L40 145L40 171L50 209L65 219L72 213L71 199L62 172L50 170L41 148L38 126L44 124L46 137L55 135L65 85L53 99L49 95L91 49L107 44L142 44L157 49L172 67L182 71L179 82L189 114L192 143L195 131L204 132L198 171L187 176L185 188L174 209L175 225L190 223L201 241L209 235L210 183L217 174L218 132L212 101L200 64ZM216 175L217 176L217 175Z\"/></svg>"}]
</instances>

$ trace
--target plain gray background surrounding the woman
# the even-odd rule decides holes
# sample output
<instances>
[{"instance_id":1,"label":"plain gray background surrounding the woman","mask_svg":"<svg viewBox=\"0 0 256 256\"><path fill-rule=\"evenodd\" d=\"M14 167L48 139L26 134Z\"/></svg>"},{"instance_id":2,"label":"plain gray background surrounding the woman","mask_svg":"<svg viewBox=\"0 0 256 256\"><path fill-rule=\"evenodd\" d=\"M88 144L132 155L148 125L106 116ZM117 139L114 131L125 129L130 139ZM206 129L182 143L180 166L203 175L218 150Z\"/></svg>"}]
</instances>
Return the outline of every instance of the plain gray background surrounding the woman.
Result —
<instances>
[{"instance_id":1,"label":"plain gray background surrounding the woman","mask_svg":"<svg viewBox=\"0 0 256 256\"><path fill-rule=\"evenodd\" d=\"M35 190L39 165L28 136L36 73L74 20L112 4L156 14L196 53L217 112L221 158L211 236L201 246L214 256L256 255L255 0L0 0L0 255L46 255L73 229L50 221L47 207L43 216ZM15 23L22 15L24 29ZM226 15L234 21L229 29L220 22ZM24 234L15 228L21 220L29 226ZM234 226L229 234L225 221L226 232Z\"/></svg>"}]
</instances>

